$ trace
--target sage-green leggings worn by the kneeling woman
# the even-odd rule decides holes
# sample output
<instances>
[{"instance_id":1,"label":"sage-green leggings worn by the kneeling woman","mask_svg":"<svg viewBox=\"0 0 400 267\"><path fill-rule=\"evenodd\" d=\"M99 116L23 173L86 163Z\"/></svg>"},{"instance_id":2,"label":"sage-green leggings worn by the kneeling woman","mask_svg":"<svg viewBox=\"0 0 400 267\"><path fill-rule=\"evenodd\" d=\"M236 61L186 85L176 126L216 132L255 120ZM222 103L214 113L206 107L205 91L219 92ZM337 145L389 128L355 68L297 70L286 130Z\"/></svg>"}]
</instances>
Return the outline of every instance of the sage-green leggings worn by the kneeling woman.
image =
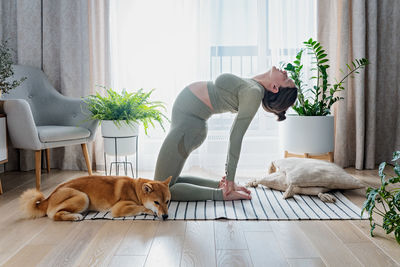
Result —
<instances>
[{"instance_id":1,"label":"sage-green leggings worn by the kneeling woman","mask_svg":"<svg viewBox=\"0 0 400 267\"><path fill-rule=\"evenodd\" d=\"M179 201L223 200L219 181L193 176L180 176L189 154L207 136L210 108L188 87L178 95L172 108L171 128L158 154L154 180L172 176L171 198Z\"/></svg>"}]
</instances>

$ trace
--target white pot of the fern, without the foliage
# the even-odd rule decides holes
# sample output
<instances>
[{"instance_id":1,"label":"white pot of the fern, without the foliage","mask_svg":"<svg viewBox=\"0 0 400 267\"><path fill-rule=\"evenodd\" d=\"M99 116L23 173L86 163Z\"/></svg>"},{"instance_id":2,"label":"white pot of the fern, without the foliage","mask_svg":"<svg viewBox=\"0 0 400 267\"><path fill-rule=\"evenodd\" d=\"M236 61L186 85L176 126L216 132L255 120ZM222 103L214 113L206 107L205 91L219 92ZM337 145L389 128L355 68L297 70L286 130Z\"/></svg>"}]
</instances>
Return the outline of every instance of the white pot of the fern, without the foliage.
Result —
<instances>
[{"instance_id":1,"label":"white pot of the fern, without the foliage","mask_svg":"<svg viewBox=\"0 0 400 267\"><path fill-rule=\"evenodd\" d=\"M104 152L107 155L127 156L136 153L136 137L139 135L139 124L118 127L114 121L101 122L101 134L104 138Z\"/></svg>"}]
</instances>

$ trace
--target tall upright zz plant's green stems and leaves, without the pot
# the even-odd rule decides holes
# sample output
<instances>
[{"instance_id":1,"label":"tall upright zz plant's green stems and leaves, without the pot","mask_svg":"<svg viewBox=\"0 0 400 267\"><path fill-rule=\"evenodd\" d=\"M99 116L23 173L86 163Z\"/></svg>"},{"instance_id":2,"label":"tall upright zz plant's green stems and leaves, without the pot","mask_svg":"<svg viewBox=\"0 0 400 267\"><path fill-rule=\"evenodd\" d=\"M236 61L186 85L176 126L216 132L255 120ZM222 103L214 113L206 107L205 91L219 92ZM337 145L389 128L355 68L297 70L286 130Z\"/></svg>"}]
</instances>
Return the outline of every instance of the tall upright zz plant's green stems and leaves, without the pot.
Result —
<instances>
[{"instance_id":1,"label":"tall upright zz plant's green stems and leaves, without the pot","mask_svg":"<svg viewBox=\"0 0 400 267\"><path fill-rule=\"evenodd\" d=\"M352 77L354 73L359 73L358 70L364 68L368 64L366 58L355 59L351 64L346 64L348 72L344 77L335 84L328 83L329 60L327 54L321 44L310 38L304 42L305 48L301 49L296 55L296 60L293 63L284 65L284 69L290 74L296 84L298 91L298 99L292 107L300 116L326 116L331 112L331 106L343 99L337 96L336 93L343 91L345 88L343 82L347 77ZM303 64L301 63L304 52L307 52L313 57L311 71L317 71L317 76L311 79L317 80L317 85L312 88L307 88L308 85L302 81ZM343 71L342 71L343 72Z\"/></svg>"}]
</instances>

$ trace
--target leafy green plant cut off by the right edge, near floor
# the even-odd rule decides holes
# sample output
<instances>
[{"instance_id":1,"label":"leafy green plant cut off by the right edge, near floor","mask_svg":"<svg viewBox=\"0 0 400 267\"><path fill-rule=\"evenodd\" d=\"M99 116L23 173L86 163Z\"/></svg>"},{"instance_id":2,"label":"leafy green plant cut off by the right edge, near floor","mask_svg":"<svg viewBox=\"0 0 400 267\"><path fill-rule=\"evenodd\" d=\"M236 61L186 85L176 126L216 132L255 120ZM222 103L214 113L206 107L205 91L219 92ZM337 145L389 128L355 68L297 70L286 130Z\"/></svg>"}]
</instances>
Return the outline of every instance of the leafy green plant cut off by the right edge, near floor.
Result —
<instances>
[{"instance_id":1,"label":"leafy green plant cut off by the right edge, near floor","mask_svg":"<svg viewBox=\"0 0 400 267\"><path fill-rule=\"evenodd\" d=\"M381 186L367 189L367 199L364 202L361 215L367 211L371 225L371 236L376 226L382 227L386 234L394 232L397 243L400 244L400 151L393 153L393 163L382 162L379 165ZM393 169L395 175L388 177L384 172L386 167ZM382 217L382 224L373 215Z\"/></svg>"}]
</instances>

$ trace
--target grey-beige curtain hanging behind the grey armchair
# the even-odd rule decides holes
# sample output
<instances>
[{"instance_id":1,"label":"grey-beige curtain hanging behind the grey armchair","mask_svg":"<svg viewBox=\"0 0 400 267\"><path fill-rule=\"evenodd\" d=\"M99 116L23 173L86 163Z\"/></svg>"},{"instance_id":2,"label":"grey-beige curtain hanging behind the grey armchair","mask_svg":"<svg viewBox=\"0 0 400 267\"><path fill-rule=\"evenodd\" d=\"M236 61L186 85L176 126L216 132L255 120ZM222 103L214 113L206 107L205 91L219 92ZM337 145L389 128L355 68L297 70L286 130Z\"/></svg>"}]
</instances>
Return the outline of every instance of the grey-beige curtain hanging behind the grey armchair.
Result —
<instances>
[{"instance_id":1,"label":"grey-beige curtain hanging behind the grey armchair","mask_svg":"<svg viewBox=\"0 0 400 267\"><path fill-rule=\"evenodd\" d=\"M108 1L2 0L1 39L15 62L43 69L63 95L83 97L109 85ZM93 168L102 159L101 140L89 146ZM85 170L80 146L52 149L51 167ZM7 170L34 168L32 151L10 149Z\"/></svg>"}]
</instances>

